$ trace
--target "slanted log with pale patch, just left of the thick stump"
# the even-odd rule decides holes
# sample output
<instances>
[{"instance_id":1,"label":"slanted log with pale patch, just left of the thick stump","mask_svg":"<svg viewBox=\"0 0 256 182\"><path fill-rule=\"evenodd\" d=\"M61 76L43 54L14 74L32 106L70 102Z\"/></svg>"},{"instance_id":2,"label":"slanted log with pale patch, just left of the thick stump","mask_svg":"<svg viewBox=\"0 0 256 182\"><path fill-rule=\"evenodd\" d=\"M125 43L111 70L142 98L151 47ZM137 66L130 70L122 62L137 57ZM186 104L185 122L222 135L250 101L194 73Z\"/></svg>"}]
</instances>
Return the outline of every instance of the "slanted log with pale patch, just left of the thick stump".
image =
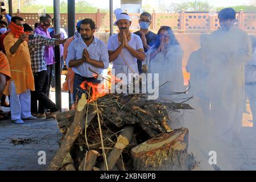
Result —
<instances>
[{"instance_id":1,"label":"slanted log with pale patch, just left of the thick stump","mask_svg":"<svg viewBox=\"0 0 256 182\"><path fill-rule=\"evenodd\" d=\"M118 136L117 143L115 143L113 150L110 152L107 158L109 170L114 167L115 163L117 163L119 156L122 154L123 149L125 149L125 147L130 143L131 137L133 136L133 131L133 126L126 126ZM101 171L106 170L105 166L105 163L101 164Z\"/></svg>"}]
</instances>

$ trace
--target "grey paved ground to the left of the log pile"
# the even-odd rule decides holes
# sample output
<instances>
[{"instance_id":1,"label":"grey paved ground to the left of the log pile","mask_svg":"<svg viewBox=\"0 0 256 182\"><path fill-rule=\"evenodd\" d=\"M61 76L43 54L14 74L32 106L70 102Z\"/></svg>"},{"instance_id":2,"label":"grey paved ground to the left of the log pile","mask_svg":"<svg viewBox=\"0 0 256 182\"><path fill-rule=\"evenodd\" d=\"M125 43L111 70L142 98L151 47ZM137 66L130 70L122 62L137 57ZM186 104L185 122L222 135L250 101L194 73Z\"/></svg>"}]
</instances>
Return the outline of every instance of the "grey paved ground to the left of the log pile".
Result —
<instances>
[{"instance_id":1,"label":"grey paved ground to the left of the log pile","mask_svg":"<svg viewBox=\"0 0 256 182\"><path fill-rule=\"evenodd\" d=\"M0 122L0 170L46 170L59 148L55 119L25 122ZM38 164L39 151L46 152L46 165Z\"/></svg>"}]
</instances>

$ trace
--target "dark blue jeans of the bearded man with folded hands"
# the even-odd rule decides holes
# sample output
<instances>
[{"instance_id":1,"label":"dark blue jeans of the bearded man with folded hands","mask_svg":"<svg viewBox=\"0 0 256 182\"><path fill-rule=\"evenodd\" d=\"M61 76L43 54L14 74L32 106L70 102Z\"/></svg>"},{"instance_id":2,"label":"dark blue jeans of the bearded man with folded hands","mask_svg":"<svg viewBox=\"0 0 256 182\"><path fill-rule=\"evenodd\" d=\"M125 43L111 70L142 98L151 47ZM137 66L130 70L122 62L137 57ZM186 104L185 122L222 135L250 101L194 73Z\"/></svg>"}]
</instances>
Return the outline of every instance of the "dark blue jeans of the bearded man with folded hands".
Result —
<instances>
[{"instance_id":1,"label":"dark blue jeans of the bearded man with folded hands","mask_svg":"<svg viewBox=\"0 0 256 182\"><path fill-rule=\"evenodd\" d=\"M76 101L79 101L82 96L82 89L80 85L84 81L100 84L100 81L94 77L90 77L90 78L82 77L81 75L78 75L77 73L75 73L74 84L73 84L73 100L75 103Z\"/></svg>"}]
</instances>

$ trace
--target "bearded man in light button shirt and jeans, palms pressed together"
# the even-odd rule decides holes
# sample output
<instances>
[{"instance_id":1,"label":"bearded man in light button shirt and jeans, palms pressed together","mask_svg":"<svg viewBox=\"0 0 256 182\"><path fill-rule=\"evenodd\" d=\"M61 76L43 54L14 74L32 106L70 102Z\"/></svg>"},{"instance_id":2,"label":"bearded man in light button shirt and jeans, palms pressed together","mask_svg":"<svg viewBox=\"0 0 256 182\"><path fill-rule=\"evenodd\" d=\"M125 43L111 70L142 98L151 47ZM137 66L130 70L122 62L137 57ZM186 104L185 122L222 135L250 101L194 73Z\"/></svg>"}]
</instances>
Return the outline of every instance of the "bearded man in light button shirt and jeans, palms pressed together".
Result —
<instances>
[{"instance_id":1,"label":"bearded man in light button shirt and jeans, palms pressed together","mask_svg":"<svg viewBox=\"0 0 256 182\"><path fill-rule=\"evenodd\" d=\"M109 67L108 49L102 40L93 36L96 30L92 19L81 21L80 35L68 46L66 64L75 72L73 83L73 100L76 102L81 97L80 85L82 82L98 83L97 74ZM92 72L93 71L93 72Z\"/></svg>"}]
</instances>

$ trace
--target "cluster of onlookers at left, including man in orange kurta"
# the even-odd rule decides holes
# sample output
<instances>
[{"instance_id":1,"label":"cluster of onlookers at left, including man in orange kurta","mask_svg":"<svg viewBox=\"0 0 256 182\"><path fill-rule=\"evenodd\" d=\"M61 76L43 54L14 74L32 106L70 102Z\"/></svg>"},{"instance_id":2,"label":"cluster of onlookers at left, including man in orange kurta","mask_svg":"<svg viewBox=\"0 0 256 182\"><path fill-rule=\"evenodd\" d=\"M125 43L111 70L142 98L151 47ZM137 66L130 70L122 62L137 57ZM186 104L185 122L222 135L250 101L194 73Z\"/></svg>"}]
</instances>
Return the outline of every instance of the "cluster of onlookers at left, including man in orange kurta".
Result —
<instances>
[{"instance_id":1,"label":"cluster of onlookers at left, including man in orange kurta","mask_svg":"<svg viewBox=\"0 0 256 182\"><path fill-rule=\"evenodd\" d=\"M10 79L1 80L5 85L1 88L2 104L10 106L11 121L17 124L26 119L54 118L60 109L49 99L55 63L53 48L61 45L63 59L67 34L55 35L54 30L53 33L48 30L52 23L48 14L40 16L35 30L19 16L10 17L6 13L5 16L9 18L8 23L0 22L0 47L2 60L8 60L10 69L1 68L1 72L8 72ZM5 61L2 63L5 65ZM6 96L9 96L10 104L6 104ZM8 115L1 110L1 118L6 117Z\"/></svg>"}]
</instances>

